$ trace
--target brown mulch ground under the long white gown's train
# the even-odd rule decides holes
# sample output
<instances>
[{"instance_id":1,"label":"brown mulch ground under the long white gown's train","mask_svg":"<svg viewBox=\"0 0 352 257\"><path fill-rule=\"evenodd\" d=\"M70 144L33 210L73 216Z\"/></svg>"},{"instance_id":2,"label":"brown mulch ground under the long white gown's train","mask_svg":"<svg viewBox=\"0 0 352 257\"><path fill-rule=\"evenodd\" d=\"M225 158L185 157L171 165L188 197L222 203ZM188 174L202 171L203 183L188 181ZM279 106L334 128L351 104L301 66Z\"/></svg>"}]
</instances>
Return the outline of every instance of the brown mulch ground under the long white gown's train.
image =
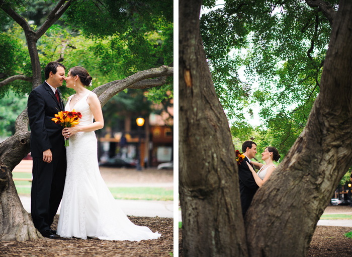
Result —
<instances>
[{"instance_id":1,"label":"brown mulch ground under the long white gown's train","mask_svg":"<svg viewBox=\"0 0 352 257\"><path fill-rule=\"evenodd\" d=\"M147 226L161 237L154 240L110 241L97 238L40 239L33 241L0 242L0 256L6 257L57 257L57 256L124 256L159 257L170 256L173 252L173 219L159 217L134 217L129 219L140 226ZM52 229L56 229L58 215L55 216Z\"/></svg>"}]
</instances>

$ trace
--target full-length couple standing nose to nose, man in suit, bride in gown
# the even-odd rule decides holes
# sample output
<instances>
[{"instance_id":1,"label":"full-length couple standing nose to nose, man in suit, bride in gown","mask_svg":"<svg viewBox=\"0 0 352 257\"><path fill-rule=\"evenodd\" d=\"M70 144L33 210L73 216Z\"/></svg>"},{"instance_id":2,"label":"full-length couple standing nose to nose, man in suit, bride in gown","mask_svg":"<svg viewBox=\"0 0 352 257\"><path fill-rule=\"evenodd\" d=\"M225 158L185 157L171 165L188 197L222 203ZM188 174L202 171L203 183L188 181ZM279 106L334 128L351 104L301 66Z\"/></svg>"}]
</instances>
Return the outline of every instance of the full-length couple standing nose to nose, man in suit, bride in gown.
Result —
<instances>
[{"instance_id":1,"label":"full-length couple standing nose to nose, man in suit, bride in gown","mask_svg":"<svg viewBox=\"0 0 352 257\"><path fill-rule=\"evenodd\" d=\"M58 62L50 62L45 67L45 82L28 97L34 226L48 238L55 238L56 234L130 241L158 238L159 233L128 219L101 177L94 131L103 128L104 119L97 95L86 88L92 85L92 77L78 66L71 68L65 77L65 69ZM65 107L57 89L64 80L66 87L76 92ZM62 129L52 121L59 111L73 109L81 113L75 127ZM67 147L65 139L69 139ZM55 231L51 225L61 198Z\"/></svg>"}]
</instances>

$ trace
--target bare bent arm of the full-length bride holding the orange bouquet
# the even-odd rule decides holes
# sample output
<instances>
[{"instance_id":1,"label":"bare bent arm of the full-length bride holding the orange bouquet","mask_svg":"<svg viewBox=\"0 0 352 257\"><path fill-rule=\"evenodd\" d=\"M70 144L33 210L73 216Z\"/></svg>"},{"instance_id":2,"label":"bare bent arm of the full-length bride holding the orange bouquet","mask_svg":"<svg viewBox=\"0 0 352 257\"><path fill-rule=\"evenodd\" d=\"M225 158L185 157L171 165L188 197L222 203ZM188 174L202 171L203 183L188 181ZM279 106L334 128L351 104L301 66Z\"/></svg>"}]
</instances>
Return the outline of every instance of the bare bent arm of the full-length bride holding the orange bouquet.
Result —
<instances>
[{"instance_id":1,"label":"bare bent arm of the full-length bride holding the orange bouquet","mask_svg":"<svg viewBox=\"0 0 352 257\"><path fill-rule=\"evenodd\" d=\"M90 125L86 126L75 126L72 128L64 128L63 133L69 132L69 136L76 134L77 132L90 132L101 129L104 127L104 118L102 107L100 105L99 99L96 94L90 94L87 98L87 104L89 104L91 111L93 113L94 119L96 120Z\"/></svg>"}]
</instances>

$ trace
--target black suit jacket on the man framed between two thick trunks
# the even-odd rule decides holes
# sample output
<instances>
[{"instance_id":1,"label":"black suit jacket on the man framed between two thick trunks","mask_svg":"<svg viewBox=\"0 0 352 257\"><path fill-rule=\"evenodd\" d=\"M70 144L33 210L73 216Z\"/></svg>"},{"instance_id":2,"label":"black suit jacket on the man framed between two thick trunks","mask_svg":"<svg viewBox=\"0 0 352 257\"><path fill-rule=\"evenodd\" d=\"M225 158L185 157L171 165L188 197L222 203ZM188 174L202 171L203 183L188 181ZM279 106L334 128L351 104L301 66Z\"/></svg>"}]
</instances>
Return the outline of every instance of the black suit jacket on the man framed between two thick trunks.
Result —
<instances>
[{"instance_id":1,"label":"black suit jacket on the man framed between two thick trunks","mask_svg":"<svg viewBox=\"0 0 352 257\"><path fill-rule=\"evenodd\" d=\"M239 192L241 194L243 215L249 208L255 192L259 188L259 186L255 183L252 172L249 170L246 161L249 163L249 159L247 157L245 157L241 165L238 166Z\"/></svg>"}]
</instances>

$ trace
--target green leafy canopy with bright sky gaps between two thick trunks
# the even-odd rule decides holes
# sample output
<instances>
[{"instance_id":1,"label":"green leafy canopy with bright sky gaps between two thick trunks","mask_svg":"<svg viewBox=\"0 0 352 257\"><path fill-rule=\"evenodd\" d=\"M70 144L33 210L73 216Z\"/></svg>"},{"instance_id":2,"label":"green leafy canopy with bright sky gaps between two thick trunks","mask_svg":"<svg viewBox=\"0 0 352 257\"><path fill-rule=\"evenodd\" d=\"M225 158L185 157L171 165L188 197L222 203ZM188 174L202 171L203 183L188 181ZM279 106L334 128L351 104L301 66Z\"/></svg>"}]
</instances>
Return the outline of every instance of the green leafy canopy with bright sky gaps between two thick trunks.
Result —
<instances>
[{"instance_id":1,"label":"green leafy canopy with bright sky gaps between two thick trunks","mask_svg":"<svg viewBox=\"0 0 352 257\"><path fill-rule=\"evenodd\" d=\"M243 112L258 103L260 140L271 134L269 143L283 155L303 130L319 93L330 38L329 15L308 2L314 1L226 1L201 17L204 48L232 131L248 126ZM333 11L337 3L327 4ZM215 2L204 5L211 8ZM240 80L240 67L246 81Z\"/></svg>"}]
</instances>

